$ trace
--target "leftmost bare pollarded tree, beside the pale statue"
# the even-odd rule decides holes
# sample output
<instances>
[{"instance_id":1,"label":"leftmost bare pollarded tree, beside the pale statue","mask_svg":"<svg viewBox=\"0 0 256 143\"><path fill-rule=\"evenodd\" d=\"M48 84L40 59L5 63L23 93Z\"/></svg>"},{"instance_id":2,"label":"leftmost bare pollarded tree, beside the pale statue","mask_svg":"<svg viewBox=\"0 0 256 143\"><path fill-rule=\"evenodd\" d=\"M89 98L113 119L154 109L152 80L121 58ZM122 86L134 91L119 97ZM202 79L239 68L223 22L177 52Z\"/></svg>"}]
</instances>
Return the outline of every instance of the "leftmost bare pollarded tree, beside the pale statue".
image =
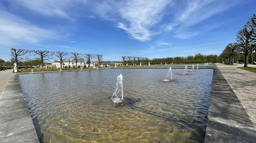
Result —
<instances>
[{"instance_id":1,"label":"leftmost bare pollarded tree, beside the pale statue","mask_svg":"<svg viewBox=\"0 0 256 143\"><path fill-rule=\"evenodd\" d=\"M26 55L29 52L27 49L16 49L11 48L11 57L12 61L14 61L17 64L17 71L18 71L18 64L25 60L24 55Z\"/></svg>"}]
</instances>

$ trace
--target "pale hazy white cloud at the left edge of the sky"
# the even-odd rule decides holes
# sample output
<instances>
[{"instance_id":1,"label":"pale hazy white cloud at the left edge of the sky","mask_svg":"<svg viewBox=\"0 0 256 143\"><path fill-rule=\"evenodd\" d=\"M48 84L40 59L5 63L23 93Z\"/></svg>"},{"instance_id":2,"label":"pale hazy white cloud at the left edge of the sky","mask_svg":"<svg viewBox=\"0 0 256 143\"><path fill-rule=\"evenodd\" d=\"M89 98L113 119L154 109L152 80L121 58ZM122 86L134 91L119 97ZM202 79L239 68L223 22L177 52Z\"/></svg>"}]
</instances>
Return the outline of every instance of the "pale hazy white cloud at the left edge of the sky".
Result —
<instances>
[{"instance_id":1,"label":"pale hazy white cloud at the left edge of the sky","mask_svg":"<svg viewBox=\"0 0 256 143\"><path fill-rule=\"evenodd\" d=\"M35 26L13 14L0 11L0 17L0 45L38 43L44 39L58 37L54 31Z\"/></svg>"}]
</instances>

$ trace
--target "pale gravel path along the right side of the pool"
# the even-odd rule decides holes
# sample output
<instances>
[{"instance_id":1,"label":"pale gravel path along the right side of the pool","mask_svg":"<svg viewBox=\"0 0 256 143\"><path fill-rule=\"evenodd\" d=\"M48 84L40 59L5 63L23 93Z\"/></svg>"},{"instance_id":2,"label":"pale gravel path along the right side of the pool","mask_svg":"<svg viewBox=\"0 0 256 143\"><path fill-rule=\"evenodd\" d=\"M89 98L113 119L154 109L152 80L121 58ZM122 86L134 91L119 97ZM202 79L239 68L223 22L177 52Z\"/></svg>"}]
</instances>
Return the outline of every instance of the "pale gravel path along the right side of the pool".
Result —
<instances>
[{"instance_id":1,"label":"pale gravel path along the right side of the pool","mask_svg":"<svg viewBox=\"0 0 256 143\"><path fill-rule=\"evenodd\" d=\"M238 66L216 64L229 86L245 108L250 120L256 125L256 73L239 69ZM256 67L256 65L248 65Z\"/></svg>"}]
</instances>

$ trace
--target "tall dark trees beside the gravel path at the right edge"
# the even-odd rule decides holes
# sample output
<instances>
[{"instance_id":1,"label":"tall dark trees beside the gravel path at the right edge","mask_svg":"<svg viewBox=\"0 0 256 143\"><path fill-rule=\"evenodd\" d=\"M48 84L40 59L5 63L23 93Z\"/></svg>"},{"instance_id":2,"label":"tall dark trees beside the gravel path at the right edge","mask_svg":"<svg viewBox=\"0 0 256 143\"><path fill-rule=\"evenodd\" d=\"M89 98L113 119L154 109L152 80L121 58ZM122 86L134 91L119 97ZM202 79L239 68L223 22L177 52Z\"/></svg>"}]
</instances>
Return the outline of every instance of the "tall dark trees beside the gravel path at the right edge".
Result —
<instances>
[{"instance_id":1,"label":"tall dark trees beside the gravel path at the right edge","mask_svg":"<svg viewBox=\"0 0 256 143\"><path fill-rule=\"evenodd\" d=\"M242 29L237 33L237 42L230 43L220 54L221 63L232 65L238 62L239 55L243 54L244 67L248 67L248 56L250 63L253 62L253 55L256 61L256 15L253 14ZM240 55L241 57L241 55Z\"/></svg>"}]
</instances>

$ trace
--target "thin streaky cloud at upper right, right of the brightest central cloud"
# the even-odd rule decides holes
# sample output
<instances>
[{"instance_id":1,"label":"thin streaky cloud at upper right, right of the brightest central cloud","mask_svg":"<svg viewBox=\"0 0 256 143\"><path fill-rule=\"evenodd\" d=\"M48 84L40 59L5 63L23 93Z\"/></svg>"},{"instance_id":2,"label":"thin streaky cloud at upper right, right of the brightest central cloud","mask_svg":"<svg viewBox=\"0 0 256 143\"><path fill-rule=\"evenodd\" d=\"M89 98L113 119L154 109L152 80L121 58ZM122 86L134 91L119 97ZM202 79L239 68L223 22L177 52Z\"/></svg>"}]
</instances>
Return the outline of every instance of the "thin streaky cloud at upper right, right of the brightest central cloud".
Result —
<instances>
[{"instance_id":1,"label":"thin streaky cloud at upper right, right of the brightest central cloud","mask_svg":"<svg viewBox=\"0 0 256 143\"><path fill-rule=\"evenodd\" d=\"M201 32L210 31L213 28L220 26L219 24L210 24L206 26L199 27L197 30L194 30L193 27L196 24L200 24L201 22L209 19L211 16L214 16L222 11L228 10L236 5L238 5L241 1L227 1L227 0L189 0L186 1L185 6L180 6L177 10L176 16L171 24L174 30L175 37L180 39L187 39L190 37L194 37Z\"/></svg>"}]
</instances>

